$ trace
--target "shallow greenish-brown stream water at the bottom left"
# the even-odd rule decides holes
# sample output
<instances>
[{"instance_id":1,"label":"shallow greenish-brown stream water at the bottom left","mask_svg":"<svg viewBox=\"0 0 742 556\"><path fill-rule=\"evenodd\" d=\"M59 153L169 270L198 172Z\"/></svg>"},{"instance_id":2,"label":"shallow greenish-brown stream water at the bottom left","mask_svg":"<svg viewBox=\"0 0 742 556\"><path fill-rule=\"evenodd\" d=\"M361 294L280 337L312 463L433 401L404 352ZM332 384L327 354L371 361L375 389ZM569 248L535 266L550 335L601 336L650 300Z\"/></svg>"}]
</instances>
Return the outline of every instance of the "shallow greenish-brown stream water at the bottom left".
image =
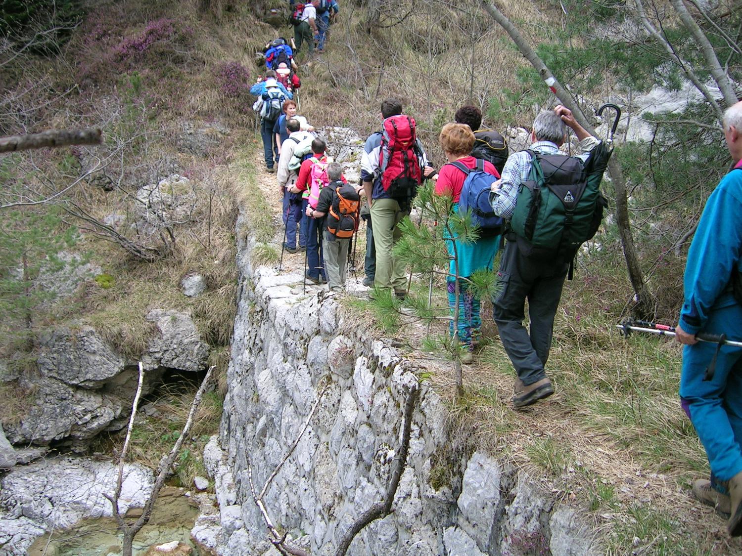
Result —
<instances>
[{"instance_id":1,"label":"shallow greenish-brown stream water at the bottom left","mask_svg":"<svg viewBox=\"0 0 742 556\"><path fill-rule=\"evenodd\" d=\"M191 528L199 513L198 506L183 495L184 490L168 486L160 491L149 523L134 537L134 556L145 555L151 546L179 540L199 552L191 540ZM137 513L139 512L139 513ZM128 517L139 517L141 509L130 510ZM65 531L53 531L36 539L29 556L116 556L121 554L122 535L113 517L88 518ZM177 552L176 554L183 554Z\"/></svg>"}]
</instances>

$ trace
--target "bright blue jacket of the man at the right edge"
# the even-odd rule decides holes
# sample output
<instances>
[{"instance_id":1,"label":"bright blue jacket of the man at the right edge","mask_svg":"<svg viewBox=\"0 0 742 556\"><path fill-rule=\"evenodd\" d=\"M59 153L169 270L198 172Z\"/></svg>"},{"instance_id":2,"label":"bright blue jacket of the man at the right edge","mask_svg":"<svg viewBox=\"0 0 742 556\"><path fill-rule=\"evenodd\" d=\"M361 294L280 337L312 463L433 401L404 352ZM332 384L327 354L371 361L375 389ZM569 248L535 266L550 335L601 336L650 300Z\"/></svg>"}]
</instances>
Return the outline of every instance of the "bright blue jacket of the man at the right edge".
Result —
<instances>
[{"instance_id":1,"label":"bright blue jacket of the man at the right edge","mask_svg":"<svg viewBox=\"0 0 742 556\"><path fill-rule=\"evenodd\" d=\"M727 286L732 272L742 269L741 254L742 170L732 170L706 201L688 251L680 310L684 331L697 334L714 309L734 305Z\"/></svg>"}]
</instances>

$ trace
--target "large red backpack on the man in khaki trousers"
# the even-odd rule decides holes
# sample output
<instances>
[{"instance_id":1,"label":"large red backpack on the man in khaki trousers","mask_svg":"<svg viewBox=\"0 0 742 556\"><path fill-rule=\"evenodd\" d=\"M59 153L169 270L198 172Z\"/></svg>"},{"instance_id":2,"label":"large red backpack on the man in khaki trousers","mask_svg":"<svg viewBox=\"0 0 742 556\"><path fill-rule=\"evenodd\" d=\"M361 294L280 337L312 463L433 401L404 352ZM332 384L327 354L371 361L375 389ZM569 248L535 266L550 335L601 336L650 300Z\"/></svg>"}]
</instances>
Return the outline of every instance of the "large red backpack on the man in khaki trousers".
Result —
<instances>
[{"instance_id":1,"label":"large red backpack on the man in khaki trousers","mask_svg":"<svg viewBox=\"0 0 742 556\"><path fill-rule=\"evenodd\" d=\"M379 150L381 187L393 199L412 199L422 182L415 119L401 114L384 120Z\"/></svg>"}]
</instances>

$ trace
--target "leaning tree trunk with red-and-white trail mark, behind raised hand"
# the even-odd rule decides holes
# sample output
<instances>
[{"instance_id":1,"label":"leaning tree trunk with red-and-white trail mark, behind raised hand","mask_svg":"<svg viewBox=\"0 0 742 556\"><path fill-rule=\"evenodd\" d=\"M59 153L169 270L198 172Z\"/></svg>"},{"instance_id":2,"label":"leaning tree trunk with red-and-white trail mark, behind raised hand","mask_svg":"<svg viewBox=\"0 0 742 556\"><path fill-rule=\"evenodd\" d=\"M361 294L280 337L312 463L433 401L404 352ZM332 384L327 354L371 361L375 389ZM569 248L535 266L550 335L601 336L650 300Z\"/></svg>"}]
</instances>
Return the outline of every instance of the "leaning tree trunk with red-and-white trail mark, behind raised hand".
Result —
<instances>
[{"instance_id":1,"label":"leaning tree trunk with red-and-white trail mark, behind raised hand","mask_svg":"<svg viewBox=\"0 0 742 556\"><path fill-rule=\"evenodd\" d=\"M577 102L574 102L574 99L568 90L562 87L559 80L554 77L551 70L546 67L546 64L544 64L539 55L536 54L536 50L533 50L531 44L528 44L526 39L520 34L519 30L515 25L513 25L510 19L508 19L490 0L483 0L482 5L485 8L485 11L492 16L495 21L497 21L500 27L502 27L508 35L510 35L510 39L513 39L513 42L516 44L522 55L528 59L528 62L531 62L531 65L541 75L541 79L543 79L546 85L548 85L554 94L557 95L559 102L572 110L577 122L580 122L580 125L582 125L588 133L595 136L595 128L590 122L588 122L588 119L585 117L585 114L582 113L580 106L577 105ZM653 303L651 294L644 282L636 248L634 248L634 237L631 235L631 222L628 217L626 179L623 177L623 171L621 171L621 166L616 159L611 158L609 160L608 172L611 174L611 180L613 182L614 190L616 191L616 224L621 236L623 257L626 259L626 269L628 270L628 279L631 281L631 287L634 288L634 294L636 294L636 305L634 309L640 316L648 316L651 313Z\"/></svg>"}]
</instances>

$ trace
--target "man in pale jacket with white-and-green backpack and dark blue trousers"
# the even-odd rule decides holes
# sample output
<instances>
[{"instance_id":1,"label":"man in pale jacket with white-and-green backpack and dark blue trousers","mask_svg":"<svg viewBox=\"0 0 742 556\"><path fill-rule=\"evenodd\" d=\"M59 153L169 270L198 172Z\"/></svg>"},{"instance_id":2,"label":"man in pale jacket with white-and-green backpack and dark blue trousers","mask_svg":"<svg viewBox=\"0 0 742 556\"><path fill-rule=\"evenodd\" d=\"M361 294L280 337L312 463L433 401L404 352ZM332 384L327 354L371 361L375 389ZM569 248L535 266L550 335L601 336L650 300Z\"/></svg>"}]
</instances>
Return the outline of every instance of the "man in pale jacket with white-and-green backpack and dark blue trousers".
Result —
<instances>
[{"instance_id":1,"label":"man in pale jacket with white-and-green backpack and dark blue trousers","mask_svg":"<svg viewBox=\"0 0 742 556\"><path fill-rule=\"evenodd\" d=\"M312 137L308 131L301 131L298 119L289 119L286 122L286 130L289 136L281 145L280 158L278 159L278 188L283 196L283 224L286 228L284 233L282 249L289 253L304 251L306 249L306 228L301 227L306 205L302 202L301 193L289 191L296 180L298 173L289 168L289 161L294 156L294 150L301 142ZM299 245L296 245L296 225L300 225Z\"/></svg>"}]
</instances>

